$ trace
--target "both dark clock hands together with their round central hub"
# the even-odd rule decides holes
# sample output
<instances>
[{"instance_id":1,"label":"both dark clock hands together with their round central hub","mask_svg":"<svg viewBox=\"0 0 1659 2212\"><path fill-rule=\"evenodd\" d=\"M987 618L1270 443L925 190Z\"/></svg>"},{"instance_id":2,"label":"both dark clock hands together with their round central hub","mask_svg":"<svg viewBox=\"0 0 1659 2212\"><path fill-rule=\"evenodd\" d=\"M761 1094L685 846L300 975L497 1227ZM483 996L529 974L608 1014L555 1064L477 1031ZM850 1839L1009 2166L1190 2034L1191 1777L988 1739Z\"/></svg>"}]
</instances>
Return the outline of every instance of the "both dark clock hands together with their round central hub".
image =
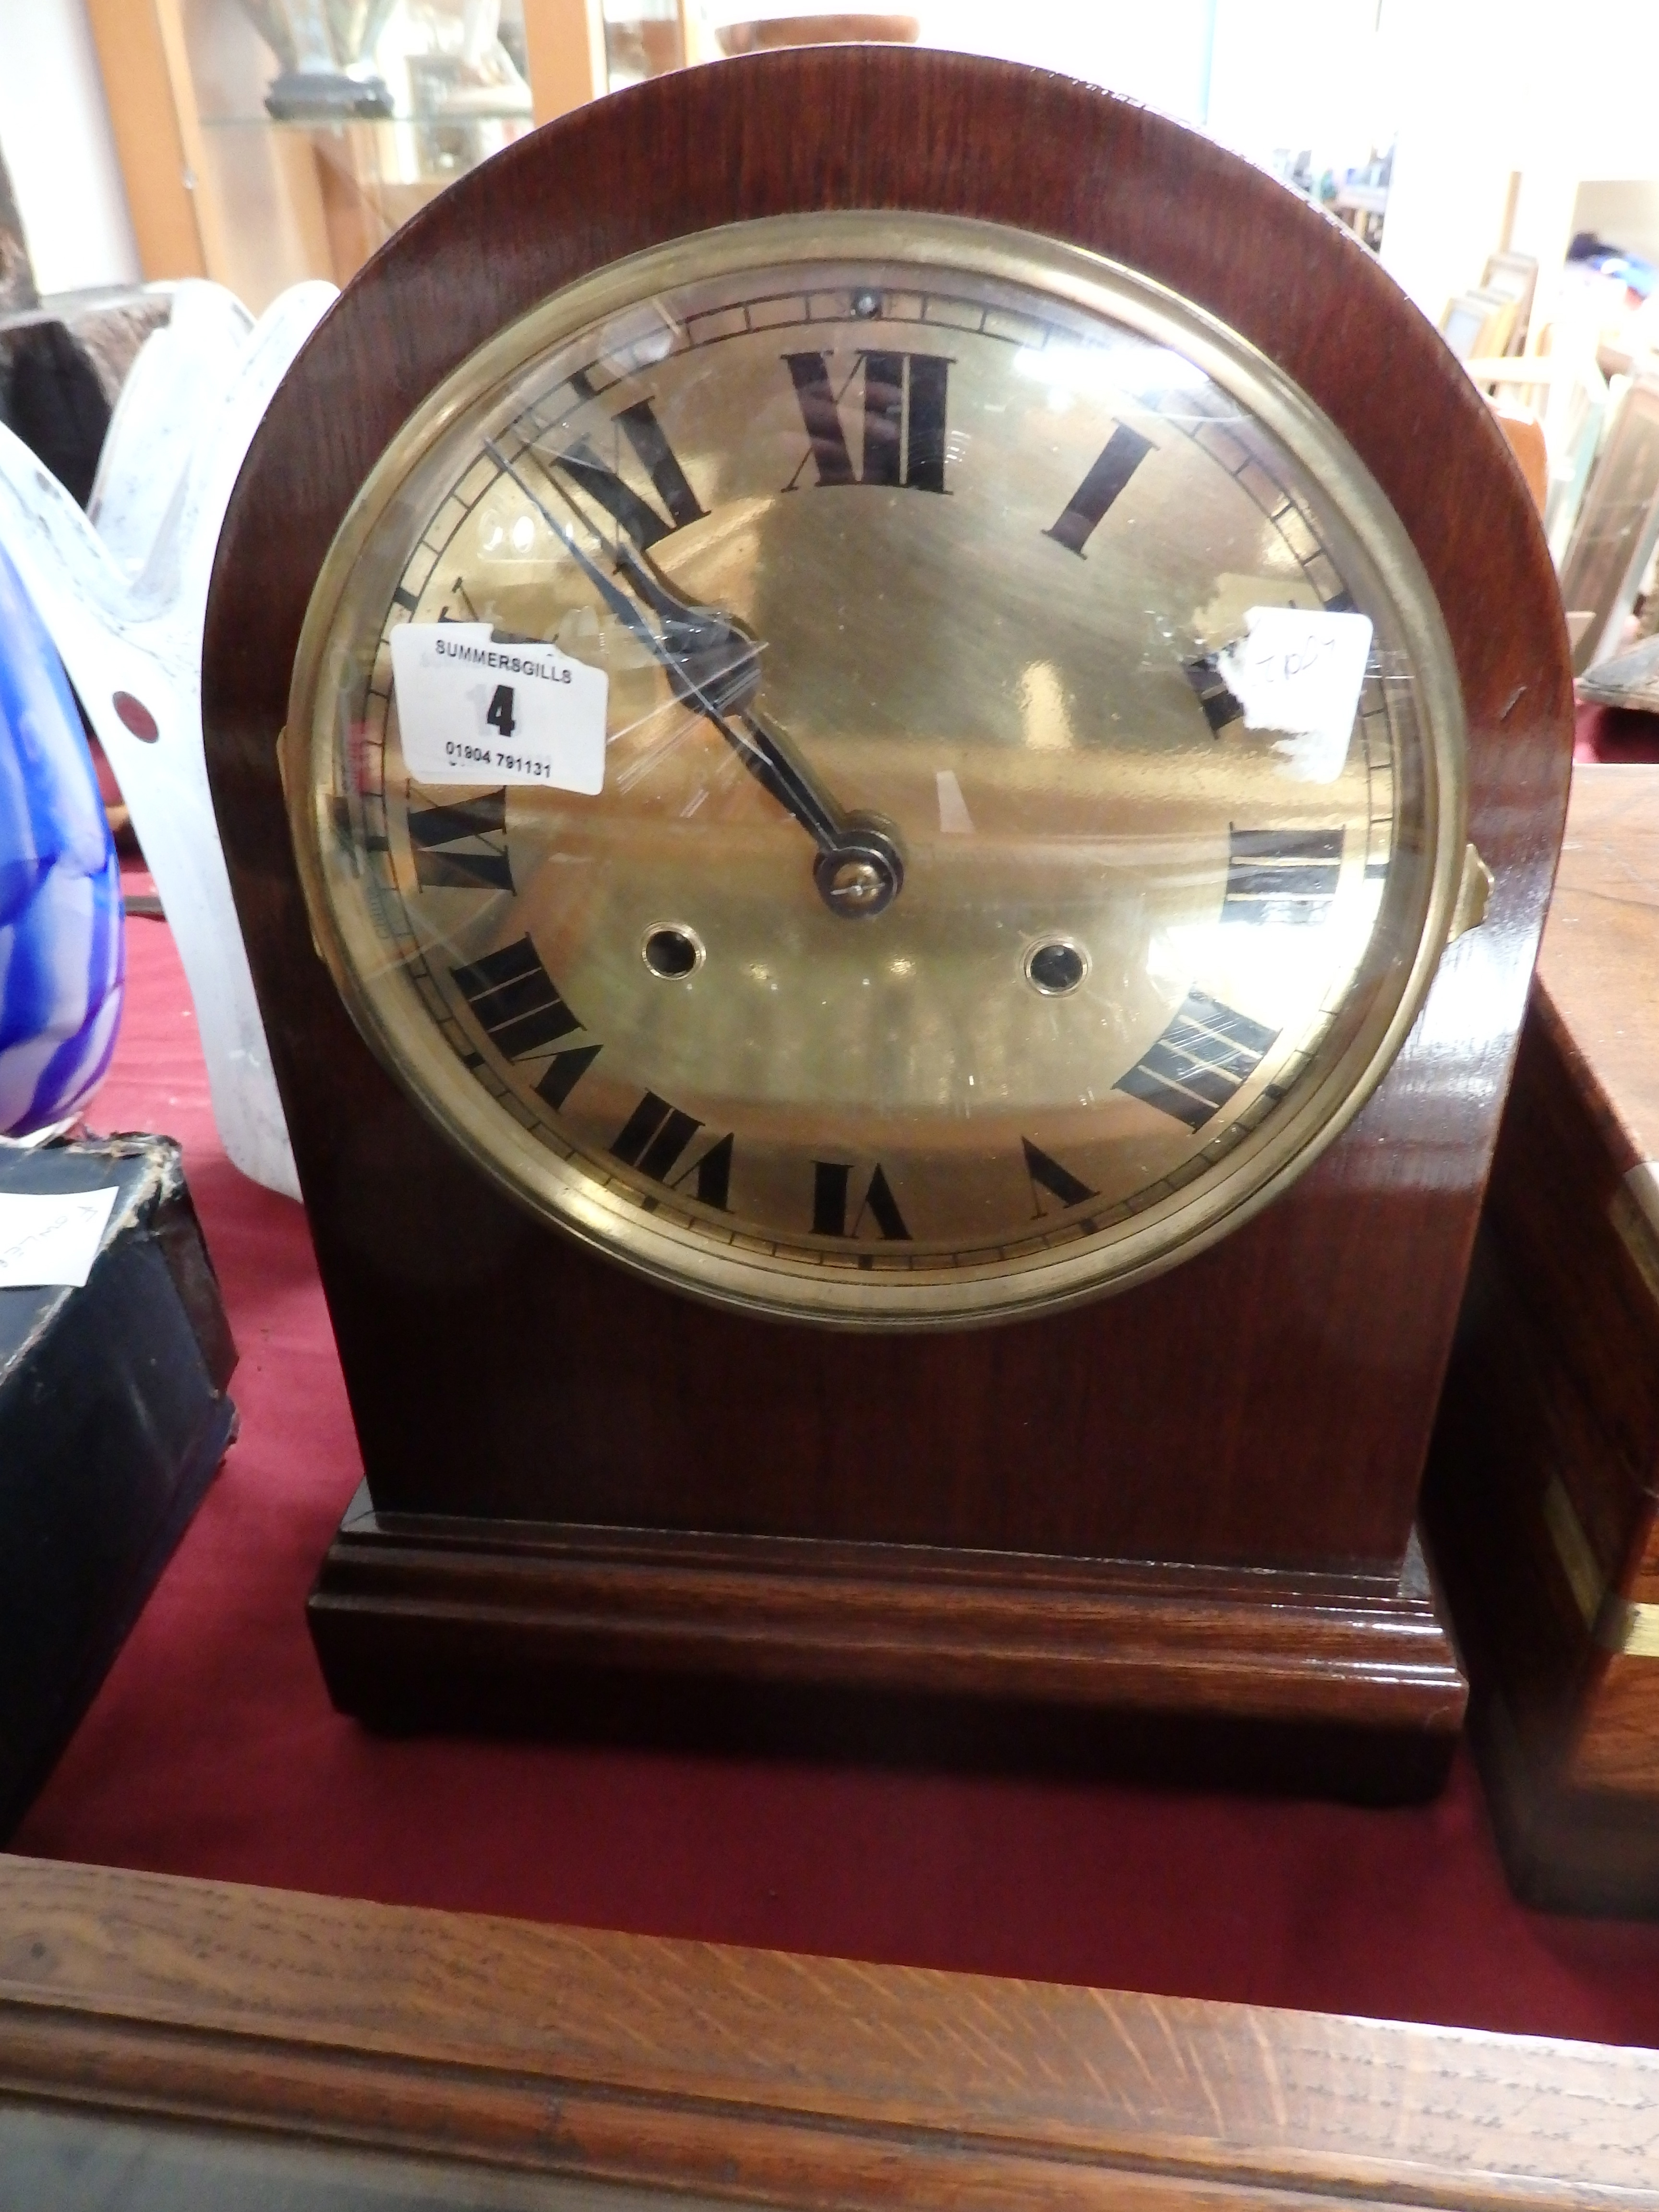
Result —
<instances>
[{"instance_id":1,"label":"both dark clock hands together with their round central hub","mask_svg":"<svg viewBox=\"0 0 1659 2212\"><path fill-rule=\"evenodd\" d=\"M812 880L830 911L847 920L885 911L905 885L898 838L889 823L843 807L807 770L787 737L748 703L759 686L763 641L717 608L699 606L677 593L637 546L608 544L577 500L549 473L549 489L564 500L588 535L613 553L635 591L630 599L493 440L484 440L484 451L524 493L611 613L661 664L675 695L719 730L761 790L801 823L818 847ZM646 608L661 622L661 633L646 619Z\"/></svg>"}]
</instances>

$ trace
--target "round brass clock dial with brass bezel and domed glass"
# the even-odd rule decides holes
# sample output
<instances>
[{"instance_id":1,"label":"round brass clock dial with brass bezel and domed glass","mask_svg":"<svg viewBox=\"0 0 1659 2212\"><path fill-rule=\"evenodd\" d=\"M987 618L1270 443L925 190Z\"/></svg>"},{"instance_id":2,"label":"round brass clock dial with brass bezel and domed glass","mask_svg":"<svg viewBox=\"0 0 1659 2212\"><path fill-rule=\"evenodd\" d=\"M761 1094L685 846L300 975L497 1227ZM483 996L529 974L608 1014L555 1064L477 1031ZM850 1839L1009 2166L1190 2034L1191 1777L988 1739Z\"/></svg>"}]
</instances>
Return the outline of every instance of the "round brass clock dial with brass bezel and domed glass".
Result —
<instances>
[{"instance_id":1,"label":"round brass clock dial with brass bezel and domed glass","mask_svg":"<svg viewBox=\"0 0 1659 2212\"><path fill-rule=\"evenodd\" d=\"M405 427L288 730L358 1026L710 1298L1029 1312L1265 1203L1462 860L1455 666L1352 449L1093 254L779 217L557 294Z\"/></svg>"}]
</instances>

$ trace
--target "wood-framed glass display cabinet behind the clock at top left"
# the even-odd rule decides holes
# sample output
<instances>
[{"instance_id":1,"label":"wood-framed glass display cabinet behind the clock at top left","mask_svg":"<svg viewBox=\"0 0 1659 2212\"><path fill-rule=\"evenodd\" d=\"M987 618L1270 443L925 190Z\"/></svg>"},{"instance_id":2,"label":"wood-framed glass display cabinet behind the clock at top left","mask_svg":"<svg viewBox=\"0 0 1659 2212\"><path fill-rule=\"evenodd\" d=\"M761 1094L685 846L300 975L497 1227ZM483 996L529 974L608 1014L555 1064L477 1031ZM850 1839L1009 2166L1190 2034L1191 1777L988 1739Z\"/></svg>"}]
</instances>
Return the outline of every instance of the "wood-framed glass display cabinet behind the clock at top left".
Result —
<instances>
[{"instance_id":1,"label":"wood-framed glass display cabinet behind the clock at top left","mask_svg":"<svg viewBox=\"0 0 1659 2212\"><path fill-rule=\"evenodd\" d=\"M668 20L646 20L666 4ZM345 283L416 208L617 82L679 66L679 0L91 0L146 276L254 312ZM639 20L635 20L639 18Z\"/></svg>"}]
</instances>

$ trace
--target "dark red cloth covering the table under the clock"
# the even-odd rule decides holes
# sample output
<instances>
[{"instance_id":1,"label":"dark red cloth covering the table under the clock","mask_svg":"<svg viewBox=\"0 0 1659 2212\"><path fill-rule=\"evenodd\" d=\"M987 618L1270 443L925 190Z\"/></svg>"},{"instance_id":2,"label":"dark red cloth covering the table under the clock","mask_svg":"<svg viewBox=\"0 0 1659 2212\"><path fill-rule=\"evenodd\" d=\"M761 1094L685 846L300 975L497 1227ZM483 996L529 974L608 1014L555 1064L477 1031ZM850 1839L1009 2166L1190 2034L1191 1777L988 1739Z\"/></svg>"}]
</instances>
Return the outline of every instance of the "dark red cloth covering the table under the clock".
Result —
<instances>
[{"instance_id":1,"label":"dark red cloth covering the table under the clock","mask_svg":"<svg viewBox=\"0 0 1659 2212\"><path fill-rule=\"evenodd\" d=\"M1467 1756L1427 1807L542 1743L378 1741L305 1593L358 1480L299 1206L208 1115L164 922L97 1128L168 1130L241 1347L241 1440L18 1851L714 1942L1659 2044L1659 1927L1524 1911Z\"/></svg>"}]
</instances>

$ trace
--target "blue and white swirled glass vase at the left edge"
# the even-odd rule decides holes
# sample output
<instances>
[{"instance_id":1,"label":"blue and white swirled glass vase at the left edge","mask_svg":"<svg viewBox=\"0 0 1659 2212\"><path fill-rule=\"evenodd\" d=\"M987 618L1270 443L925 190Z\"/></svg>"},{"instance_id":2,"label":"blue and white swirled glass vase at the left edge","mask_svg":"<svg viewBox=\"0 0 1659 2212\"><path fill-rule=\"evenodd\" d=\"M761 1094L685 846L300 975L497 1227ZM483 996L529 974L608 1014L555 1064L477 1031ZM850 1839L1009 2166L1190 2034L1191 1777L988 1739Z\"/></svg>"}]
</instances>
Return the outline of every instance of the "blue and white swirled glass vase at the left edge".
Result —
<instances>
[{"instance_id":1,"label":"blue and white swirled glass vase at the left edge","mask_svg":"<svg viewBox=\"0 0 1659 2212\"><path fill-rule=\"evenodd\" d=\"M122 869L75 699L0 549L0 1130L75 1113L115 1051Z\"/></svg>"}]
</instances>

